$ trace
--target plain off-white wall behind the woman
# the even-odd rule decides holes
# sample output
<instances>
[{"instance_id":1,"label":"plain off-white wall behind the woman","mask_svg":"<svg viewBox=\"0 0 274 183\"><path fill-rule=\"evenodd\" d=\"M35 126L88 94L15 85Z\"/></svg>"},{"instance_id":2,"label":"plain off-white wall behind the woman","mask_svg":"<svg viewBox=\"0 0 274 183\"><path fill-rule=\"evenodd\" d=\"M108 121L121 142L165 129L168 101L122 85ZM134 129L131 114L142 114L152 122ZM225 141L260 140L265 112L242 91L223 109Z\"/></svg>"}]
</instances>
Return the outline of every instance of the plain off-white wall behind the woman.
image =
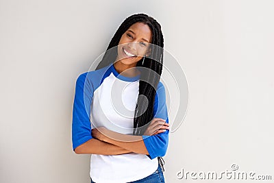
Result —
<instances>
[{"instance_id":1,"label":"plain off-white wall behind the woman","mask_svg":"<svg viewBox=\"0 0 274 183\"><path fill-rule=\"evenodd\" d=\"M188 78L188 112L164 156L166 182L205 182L176 173L231 164L274 178L273 5L0 1L0 182L90 182L90 156L71 146L75 81L137 12L160 22Z\"/></svg>"}]
</instances>

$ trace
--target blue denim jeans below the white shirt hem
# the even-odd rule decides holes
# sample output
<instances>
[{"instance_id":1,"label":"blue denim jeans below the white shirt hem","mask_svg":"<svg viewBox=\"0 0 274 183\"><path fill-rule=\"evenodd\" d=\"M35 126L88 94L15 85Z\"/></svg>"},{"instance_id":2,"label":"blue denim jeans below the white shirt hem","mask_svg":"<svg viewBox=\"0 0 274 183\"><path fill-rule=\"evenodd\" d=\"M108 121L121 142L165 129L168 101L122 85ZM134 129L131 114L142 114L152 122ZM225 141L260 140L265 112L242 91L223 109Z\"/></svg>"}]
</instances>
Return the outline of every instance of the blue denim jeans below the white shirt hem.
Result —
<instances>
[{"instance_id":1,"label":"blue denim jeans below the white shirt hem","mask_svg":"<svg viewBox=\"0 0 274 183\"><path fill-rule=\"evenodd\" d=\"M90 178L91 183L93 182ZM140 180L136 180L134 182L127 182L127 183L164 183L164 174L162 173L162 169L160 167L160 164L158 164L158 169L154 171L151 175L147 176L146 178L142 178Z\"/></svg>"}]
</instances>

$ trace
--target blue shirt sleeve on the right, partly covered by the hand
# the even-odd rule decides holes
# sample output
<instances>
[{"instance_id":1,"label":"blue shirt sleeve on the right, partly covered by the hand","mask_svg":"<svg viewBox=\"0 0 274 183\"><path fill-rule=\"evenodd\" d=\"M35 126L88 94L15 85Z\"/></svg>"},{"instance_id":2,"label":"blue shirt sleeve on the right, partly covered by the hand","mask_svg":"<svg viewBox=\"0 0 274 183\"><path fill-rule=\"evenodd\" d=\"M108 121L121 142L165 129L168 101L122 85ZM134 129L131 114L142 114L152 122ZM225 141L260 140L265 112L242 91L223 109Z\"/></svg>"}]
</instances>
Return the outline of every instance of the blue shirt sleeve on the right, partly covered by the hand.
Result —
<instances>
[{"instance_id":1,"label":"blue shirt sleeve on the right, partly covered by the hand","mask_svg":"<svg viewBox=\"0 0 274 183\"><path fill-rule=\"evenodd\" d=\"M166 120L166 123L169 123L168 111L166 108L166 93L162 82L159 82L156 90L153 116L154 118L164 119ZM143 135L142 139L147 147L147 151L149 151L149 155L147 156L152 160L153 158L166 154L166 149L169 144L169 130L152 136Z\"/></svg>"}]
</instances>

